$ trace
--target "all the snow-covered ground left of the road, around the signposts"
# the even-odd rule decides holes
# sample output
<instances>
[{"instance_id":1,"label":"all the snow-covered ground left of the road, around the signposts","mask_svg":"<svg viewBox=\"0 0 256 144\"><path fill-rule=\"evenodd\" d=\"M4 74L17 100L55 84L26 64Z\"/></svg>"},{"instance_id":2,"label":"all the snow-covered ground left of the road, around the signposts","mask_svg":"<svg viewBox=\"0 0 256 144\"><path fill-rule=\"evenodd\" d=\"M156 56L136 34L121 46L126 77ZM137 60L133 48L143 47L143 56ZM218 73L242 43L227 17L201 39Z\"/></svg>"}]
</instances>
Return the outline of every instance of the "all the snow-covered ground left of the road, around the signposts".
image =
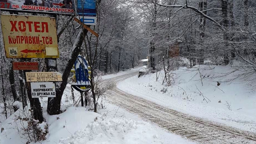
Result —
<instances>
[{"instance_id":1,"label":"all the snow-covered ground left of the road, around the signposts","mask_svg":"<svg viewBox=\"0 0 256 144\"><path fill-rule=\"evenodd\" d=\"M133 71L105 77L113 78ZM78 100L80 93L74 92ZM144 122L105 100L105 107L98 109L99 113L88 111L90 107L75 107L72 101L70 85L67 85L62 97L61 108L64 112L49 116L46 112L47 98L40 99L44 118L49 124L49 134L46 140L34 144L194 144L154 124ZM2 123L1 127L5 129L0 134L0 144L27 142L27 139L21 138L23 131L17 120L18 116L24 117L24 112L18 110Z\"/></svg>"}]
</instances>

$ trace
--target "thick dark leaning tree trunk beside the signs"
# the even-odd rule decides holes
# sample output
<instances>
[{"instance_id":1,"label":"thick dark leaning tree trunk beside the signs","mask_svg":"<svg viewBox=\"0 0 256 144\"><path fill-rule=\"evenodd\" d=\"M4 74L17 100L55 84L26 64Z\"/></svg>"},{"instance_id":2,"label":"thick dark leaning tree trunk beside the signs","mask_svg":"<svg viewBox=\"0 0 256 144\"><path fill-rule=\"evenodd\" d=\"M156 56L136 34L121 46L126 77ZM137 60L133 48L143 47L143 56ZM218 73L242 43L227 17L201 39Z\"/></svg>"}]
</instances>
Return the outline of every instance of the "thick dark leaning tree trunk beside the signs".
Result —
<instances>
[{"instance_id":1,"label":"thick dark leaning tree trunk beside the signs","mask_svg":"<svg viewBox=\"0 0 256 144\"><path fill-rule=\"evenodd\" d=\"M85 34L88 31L85 30ZM68 77L70 74L70 70L72 69L76 58L78 57L79 53L80 53L80 47L82 46L83 43L83 33L82 30L79 32L78 34L78 41L74 44L74 49L70 54L70 59L68 60L67 64L66 64L66 68L63 72L62 75L62 82L57 82L56 83L56 97L52 98L48 103L47 106L47 112L49 115L54 115L54 114L60 114L60 102L62 99L62 95L63 92L66 88L66 85L68 84Z\"/></svg>"}]
</instances>

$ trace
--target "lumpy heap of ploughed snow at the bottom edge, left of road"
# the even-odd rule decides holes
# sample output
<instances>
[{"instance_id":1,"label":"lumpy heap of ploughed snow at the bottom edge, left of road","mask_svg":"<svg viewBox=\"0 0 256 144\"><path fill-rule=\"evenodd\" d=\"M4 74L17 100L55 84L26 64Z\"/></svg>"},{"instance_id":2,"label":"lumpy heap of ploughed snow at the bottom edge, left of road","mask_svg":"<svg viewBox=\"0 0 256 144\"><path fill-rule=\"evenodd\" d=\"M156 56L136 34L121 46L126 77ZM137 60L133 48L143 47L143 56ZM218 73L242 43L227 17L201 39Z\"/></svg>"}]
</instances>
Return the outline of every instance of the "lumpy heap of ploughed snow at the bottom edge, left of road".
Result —
<instances>
[{"instance_id":1,"label":"lumpy heap of ploughed snow at the bottom edge, left of road","mask_svg":"<svg viewBox=\"0 0 256 144\"><path fill-rule=\"evenodd\" d=\"M59 144L161 144L147 122L113 118L90 123Z\"/></svg>"}]
</instances>

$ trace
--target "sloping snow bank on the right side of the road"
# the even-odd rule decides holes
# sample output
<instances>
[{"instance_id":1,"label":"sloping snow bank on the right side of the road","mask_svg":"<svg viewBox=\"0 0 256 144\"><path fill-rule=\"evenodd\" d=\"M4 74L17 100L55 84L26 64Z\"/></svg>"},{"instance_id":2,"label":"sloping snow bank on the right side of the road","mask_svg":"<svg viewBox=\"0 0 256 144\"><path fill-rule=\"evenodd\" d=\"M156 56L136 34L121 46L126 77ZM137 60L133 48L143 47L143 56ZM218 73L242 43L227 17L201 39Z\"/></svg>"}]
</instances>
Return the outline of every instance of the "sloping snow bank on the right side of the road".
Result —
<instances>
[{"instance_id":1,"label":"sloping snow bank on the right side of the road","mask_svg":"<svg viewBox=\"0 0 256 144\"><path fill-rule=\"evenodd\" d=\"M119 82L117 87L129 94L192 116L256 132L255 83L249 83L242 76L237 78L244 72L230 73L234 69L229 66L200 65L199 71L198 67L199 65L191 69L182 67L173 71L174 82L171 86L162 85L164 71L161 71L158 81L156 73L140 78L137 75ZM162 92L163 88L167 91Z\"/></svg>"}]
</instances>

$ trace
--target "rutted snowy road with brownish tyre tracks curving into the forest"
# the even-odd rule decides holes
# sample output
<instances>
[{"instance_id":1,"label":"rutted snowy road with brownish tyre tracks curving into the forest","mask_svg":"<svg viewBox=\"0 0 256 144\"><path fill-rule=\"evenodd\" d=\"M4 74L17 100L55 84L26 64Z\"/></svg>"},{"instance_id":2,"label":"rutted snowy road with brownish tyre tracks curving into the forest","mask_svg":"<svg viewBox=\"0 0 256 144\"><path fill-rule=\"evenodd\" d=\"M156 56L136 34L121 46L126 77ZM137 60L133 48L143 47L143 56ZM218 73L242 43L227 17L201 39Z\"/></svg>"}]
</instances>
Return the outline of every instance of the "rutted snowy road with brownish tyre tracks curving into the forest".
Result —
<instances>
[{"instance_id":1,"label":"rutted snowy road with brownish tyre tracks curving into the forest","mask_svg":"<svg viewBox=\"0 0 256 144\"><path fill-rule=\"evenodd\" d=\"M138 72L107 79L103 81L103 84L109 82L116 83L136 74ZM187 114L165 108L144 98L127 94L117 87L110 90L107 100L115 105L120 105L129 112L139 115L146 121L155 123L159 127L197 143L256 144L256 133L224 126L223 124L206 121L202 118L188 116Z\"/></svg>"}]
</instances>

